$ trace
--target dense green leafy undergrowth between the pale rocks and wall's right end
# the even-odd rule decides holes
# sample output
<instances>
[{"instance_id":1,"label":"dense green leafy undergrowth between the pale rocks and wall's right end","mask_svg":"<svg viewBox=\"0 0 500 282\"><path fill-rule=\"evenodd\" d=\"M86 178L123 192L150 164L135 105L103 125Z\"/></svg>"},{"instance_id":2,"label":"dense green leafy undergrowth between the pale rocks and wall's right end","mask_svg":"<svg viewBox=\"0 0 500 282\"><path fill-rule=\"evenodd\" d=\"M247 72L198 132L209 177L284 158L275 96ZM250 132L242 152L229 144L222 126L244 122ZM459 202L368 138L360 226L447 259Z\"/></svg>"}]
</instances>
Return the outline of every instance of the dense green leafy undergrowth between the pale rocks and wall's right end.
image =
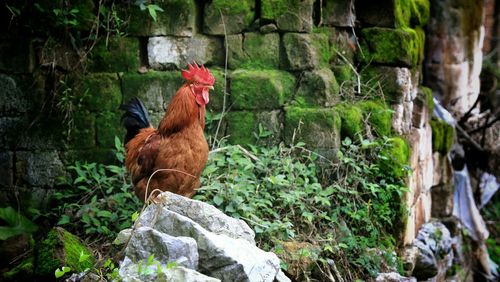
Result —
<instances>
[{"instance_id":1,"label":"dense green leafy undergrowth between the pale rocks and wall's right end","mask_svg":"<svg viewBox=\"0 0 500 282\"><path fill-rule=\"evenodd\" d=\"M403 177L382 169L386 162L401 161L389 153L395 143L346 138L338 163L304 144L249 151L228 146L210 156L205 186L195 198L247 221L258 244L281 256L285 270L296 271L298 263L303 277L315 273L323 279L335 262L342 277L373 277L384 265L396 266L395 242L405 212ZM290 242L311 247L294 256L285 250Z\"/></svg>"}]
</instances>

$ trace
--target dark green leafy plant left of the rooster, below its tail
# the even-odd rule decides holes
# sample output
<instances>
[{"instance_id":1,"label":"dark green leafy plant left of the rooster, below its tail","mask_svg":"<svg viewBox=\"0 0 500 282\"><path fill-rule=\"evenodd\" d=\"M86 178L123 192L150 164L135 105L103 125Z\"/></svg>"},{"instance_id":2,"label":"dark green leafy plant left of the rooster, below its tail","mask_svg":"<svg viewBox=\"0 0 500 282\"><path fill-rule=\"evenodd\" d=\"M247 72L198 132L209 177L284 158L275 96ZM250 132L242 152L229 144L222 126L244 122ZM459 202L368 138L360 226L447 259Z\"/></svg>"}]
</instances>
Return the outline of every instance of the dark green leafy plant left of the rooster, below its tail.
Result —
<instances>
[{"instance_id":1,"label":"dark green leafy plant left of the rooster, below its tail","mask_svg":"<svg viewBox=\"0 0 500 282\"><path fill-rule=\"evenodd\" d=\"M68 189L54 194L60 205L58 225L80 234L114 237L132 225L131 215L141 204L123 166L124 148L115 137L115 156L119 165L76 162L69 169L74 178L62 179Z\"/></svg>"}]
</instances>

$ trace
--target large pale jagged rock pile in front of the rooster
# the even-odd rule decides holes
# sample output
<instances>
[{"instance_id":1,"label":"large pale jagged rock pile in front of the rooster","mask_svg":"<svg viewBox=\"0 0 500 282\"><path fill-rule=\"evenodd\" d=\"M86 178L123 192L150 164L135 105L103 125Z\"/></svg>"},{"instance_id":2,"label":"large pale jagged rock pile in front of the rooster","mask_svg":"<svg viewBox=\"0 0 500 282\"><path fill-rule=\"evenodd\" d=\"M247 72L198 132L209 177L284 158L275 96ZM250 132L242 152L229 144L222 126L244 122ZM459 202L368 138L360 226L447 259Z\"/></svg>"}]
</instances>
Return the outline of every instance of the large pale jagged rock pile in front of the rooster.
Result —
<instances>
[{"instance_id":1,"label":"large pale jagged rock pile in front of the rooster","mask_svg":"<svg viewBox=\"0 0 500 282\"><path fill-rule=\"evenodd\" d=\"M173 251L187 246L186 249L191 251L193 244L197 246L198 266L193 263L183 265L210 277L222 281L273 281L279 274L278 257L255 246L254 234L243 221L230 218L211 205L169 192L162 193L157 200L159 204L147 207L137 220L139 228L132 234L120 266L120 275L125 281L163 281L163 276L155 277L153 274L149 278L138 277L139 266L132 262L148 259L152 250L155 257L161 258L160 261L172 261L175 260L171 257ZM186 237L191 237L192 241L188 242ZM183 240L179 242L181 247L155 245L160 241L163 241L161 245L168 245L176 240ZM154 244L145 243L147 241ZM176 256L187 258L181 253ZM148 272L157 273L159 266L152 263L149 267L151 271ZM166 281L215 281L206 277L194 280L189 280L189 277L171 278L167 276L169 272L166 273ZM191 272L188 274L191 275Z\"/></svg>"}]
</instances>

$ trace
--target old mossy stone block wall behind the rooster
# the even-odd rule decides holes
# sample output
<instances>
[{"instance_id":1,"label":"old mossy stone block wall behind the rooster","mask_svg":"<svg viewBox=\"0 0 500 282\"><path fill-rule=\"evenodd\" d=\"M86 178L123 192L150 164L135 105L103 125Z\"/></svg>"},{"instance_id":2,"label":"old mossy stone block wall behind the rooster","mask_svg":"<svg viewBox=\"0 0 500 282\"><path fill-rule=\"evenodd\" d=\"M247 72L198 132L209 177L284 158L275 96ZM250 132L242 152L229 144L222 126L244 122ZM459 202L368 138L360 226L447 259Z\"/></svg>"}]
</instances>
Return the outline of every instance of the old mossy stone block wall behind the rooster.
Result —
<instances>
[{"instance_id":1,"label":"old mossy stone block wall behind the rooster","mask_svg":"<svg viewBox=\"0 0 500 282\"><path fill-rule=\"evenodd\" d=\"M164 12L154 21L124 4L126 36L97 42L83 75L68 66L75 60L68 46L43 48L46 42L34 38L2 35L2 199L43 202L64 165L112 161L114 136L124 134L119 105L137 96L157 124L182 84L179 69L196 60L216 77L208 107L212 116L221 113L226 100L229 112L218 137L228 136L232 143L257 142L253 132L262 124L272 132L265 142L305 141L333 157L344 137L400 136L394 155L414 171L408 180L405 243L413 240L430 218L432 94L420 87L429 1L172 0L158 5ZM58 84L58 93L71 96L70 112L57 111L65 96L50 94L56 84L50 68L64 73L67 82ZM64 119L65 113L71 118ZM213 133L214 126L209 130Z\"/></svg>"}]
</instances>

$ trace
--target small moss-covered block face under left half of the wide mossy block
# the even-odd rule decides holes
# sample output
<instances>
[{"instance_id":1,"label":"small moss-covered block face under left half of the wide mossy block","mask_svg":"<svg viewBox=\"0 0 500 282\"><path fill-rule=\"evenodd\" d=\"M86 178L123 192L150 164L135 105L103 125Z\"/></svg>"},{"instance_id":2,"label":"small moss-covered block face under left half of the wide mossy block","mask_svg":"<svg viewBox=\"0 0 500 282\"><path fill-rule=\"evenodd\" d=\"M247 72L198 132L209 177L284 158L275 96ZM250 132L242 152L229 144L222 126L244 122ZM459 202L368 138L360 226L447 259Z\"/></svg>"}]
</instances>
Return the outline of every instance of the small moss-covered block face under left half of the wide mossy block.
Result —
<instances>
[{"instance_id":1,"label":"small moss-covered block face under left half of the wide mossy block","mask_svg":"<svg viewBox=\"0 0 500 282\"><path fill-rule=\"evenodd\" d=\"M252 112L230 112L226 115L228 141L232 144L254 144L256 119Z\"/></svg>"}]
</instances>

